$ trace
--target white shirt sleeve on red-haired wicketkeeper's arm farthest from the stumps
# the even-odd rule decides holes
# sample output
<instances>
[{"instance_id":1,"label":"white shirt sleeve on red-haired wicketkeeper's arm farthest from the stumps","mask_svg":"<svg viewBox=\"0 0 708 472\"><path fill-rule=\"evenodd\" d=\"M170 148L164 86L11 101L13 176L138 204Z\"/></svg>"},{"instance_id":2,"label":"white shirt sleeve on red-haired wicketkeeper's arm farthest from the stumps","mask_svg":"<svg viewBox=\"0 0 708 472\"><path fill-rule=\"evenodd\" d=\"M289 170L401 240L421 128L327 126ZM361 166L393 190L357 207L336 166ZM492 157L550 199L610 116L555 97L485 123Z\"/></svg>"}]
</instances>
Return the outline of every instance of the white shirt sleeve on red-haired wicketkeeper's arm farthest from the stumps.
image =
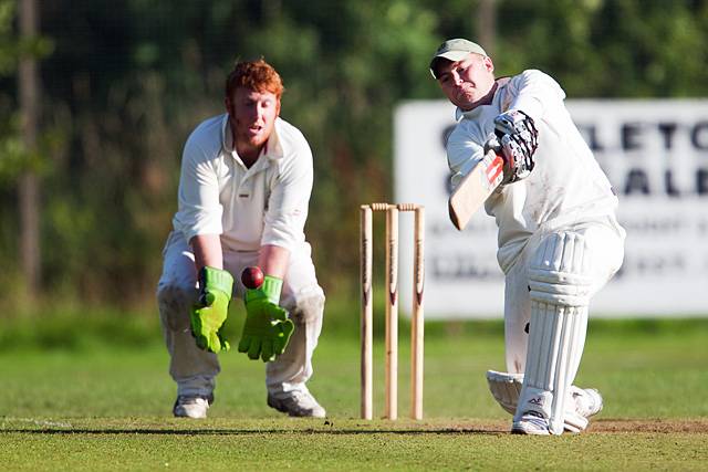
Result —
<instances>
[{"instance_id":1,"label":"white shirt sleeve on red-haired wicketkeeper's arm farthest from the stumps","mask_svg":"<svg viewBox=\"0 0 708 472\"><path fill-rule=\"evenodd\" d=\"M221 234L217 160L191 136L185 145L174 227L187 241L197 234Z\"/></svg>"}]
</instances>

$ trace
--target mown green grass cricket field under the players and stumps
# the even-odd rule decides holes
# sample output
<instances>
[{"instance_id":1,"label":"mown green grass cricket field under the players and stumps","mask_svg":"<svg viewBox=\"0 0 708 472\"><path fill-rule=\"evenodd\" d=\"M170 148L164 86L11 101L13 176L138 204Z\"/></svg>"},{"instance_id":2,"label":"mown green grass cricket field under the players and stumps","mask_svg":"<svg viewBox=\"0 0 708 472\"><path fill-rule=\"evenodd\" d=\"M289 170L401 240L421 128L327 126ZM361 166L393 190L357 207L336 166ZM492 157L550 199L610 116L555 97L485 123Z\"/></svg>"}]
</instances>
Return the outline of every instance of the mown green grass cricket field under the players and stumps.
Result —
<instances>
[{"instance_id":1,"label":"mown green grass cricket field under the players and stumps","mask_svg":"<svg viewBox=\"0 0 708 472\"><path fill-rule=\"evenodd\" d=\"M106 325L112 326L112 325ZM170 417L175 388L156 325L144 336L103 329L52 342L22 329L0 349L3 470L705 470L708 321L593 322L577 384L605 409L583 434L516 437L483 373L503 368L500 324L427 325L425 419L358 417L358 339L325 331L311 390L325 420L266 406L263 365L221 356L208 420ZM402 326L402 335L406 333ZM24 333L24 335L22 335ZM8 333L3 335L7 339ZM61 336L58 335L58 339ZM70 339L71 336L66 336ZM127 339L127 340L126 340ZM376 415L383 347L376 346ZM407 338L400 339L399 411L408 411Z\"/></svg>"}]
</instances>

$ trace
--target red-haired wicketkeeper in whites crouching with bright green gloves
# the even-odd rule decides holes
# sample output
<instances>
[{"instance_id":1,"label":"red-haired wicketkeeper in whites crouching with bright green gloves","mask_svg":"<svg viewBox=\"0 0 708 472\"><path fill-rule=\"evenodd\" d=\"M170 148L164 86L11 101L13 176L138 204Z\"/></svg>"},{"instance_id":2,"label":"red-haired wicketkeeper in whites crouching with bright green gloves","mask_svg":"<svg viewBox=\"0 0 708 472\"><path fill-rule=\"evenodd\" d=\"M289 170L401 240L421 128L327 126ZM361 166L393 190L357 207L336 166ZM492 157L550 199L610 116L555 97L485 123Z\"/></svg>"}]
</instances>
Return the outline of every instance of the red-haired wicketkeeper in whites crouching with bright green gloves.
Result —
<instances>
[{"instance_id":1,"label":"red-haired wicketkeeper in whites crouching with bright green gloves","mask_svg":"<svg viewBox=\"0 0 708 472\"><path fill-rule=\"evenodd\" d=\"M176 417L207 416L236 296L246 307L238 350L267 363L268 405L293 417L325 416L305 386L324 312L304 235L312 151L280 117L282 94L264 60L238 62L226 80L226 113L199 124L185 144L157 287Z\"/></svg>"}]
</instances>

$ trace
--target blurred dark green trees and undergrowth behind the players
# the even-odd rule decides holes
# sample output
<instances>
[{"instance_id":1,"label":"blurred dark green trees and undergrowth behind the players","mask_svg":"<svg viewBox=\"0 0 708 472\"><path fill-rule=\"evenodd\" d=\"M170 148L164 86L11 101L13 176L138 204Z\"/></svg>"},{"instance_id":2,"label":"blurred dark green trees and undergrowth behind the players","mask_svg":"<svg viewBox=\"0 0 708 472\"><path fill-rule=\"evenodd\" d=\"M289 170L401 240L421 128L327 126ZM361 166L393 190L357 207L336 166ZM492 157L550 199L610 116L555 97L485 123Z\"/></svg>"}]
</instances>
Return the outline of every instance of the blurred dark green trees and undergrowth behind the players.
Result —
<instances>
[{"instance_id":1,"label":"blurred dark green trees and undergrowth behind the players","mask_svg":"<svg viewBox=\"0 0 708 472\"><path fill-rule=\"evenodd\" d=\"M394 107L441 98L427 64L452 36L483 40L501 75L541 69L573 98L708 95L702 0L0 0L2 313L30 300L152 306L181 146L222 113L235 60L261 55L285 83L282 116L313 147L319 277L355 298L358 204L393 198Z\"/></svg>"}]
</instances>

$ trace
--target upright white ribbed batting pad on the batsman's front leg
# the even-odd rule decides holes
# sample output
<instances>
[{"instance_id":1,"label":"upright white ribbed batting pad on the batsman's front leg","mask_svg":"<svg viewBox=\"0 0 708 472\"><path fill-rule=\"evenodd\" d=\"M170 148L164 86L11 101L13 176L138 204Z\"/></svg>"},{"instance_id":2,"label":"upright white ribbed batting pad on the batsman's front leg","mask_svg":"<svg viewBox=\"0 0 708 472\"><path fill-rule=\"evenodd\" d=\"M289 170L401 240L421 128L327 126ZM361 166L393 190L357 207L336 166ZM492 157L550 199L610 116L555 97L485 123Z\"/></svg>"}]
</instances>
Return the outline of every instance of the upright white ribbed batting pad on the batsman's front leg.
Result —
<instances>
[{"instance_id":1,"label":"upright white ribbed batting pad on the batsman's front leg","mask_svg":"<svg viewBox=\"0 0 708 472\"><path fill-rule=\"evenodd\" d=\"M529 349L517 416L543 415L553 434L563 432L565 401L585 345L590 260L583 235L553 233L529 268Z\"/></svg>"}]
</instances>

